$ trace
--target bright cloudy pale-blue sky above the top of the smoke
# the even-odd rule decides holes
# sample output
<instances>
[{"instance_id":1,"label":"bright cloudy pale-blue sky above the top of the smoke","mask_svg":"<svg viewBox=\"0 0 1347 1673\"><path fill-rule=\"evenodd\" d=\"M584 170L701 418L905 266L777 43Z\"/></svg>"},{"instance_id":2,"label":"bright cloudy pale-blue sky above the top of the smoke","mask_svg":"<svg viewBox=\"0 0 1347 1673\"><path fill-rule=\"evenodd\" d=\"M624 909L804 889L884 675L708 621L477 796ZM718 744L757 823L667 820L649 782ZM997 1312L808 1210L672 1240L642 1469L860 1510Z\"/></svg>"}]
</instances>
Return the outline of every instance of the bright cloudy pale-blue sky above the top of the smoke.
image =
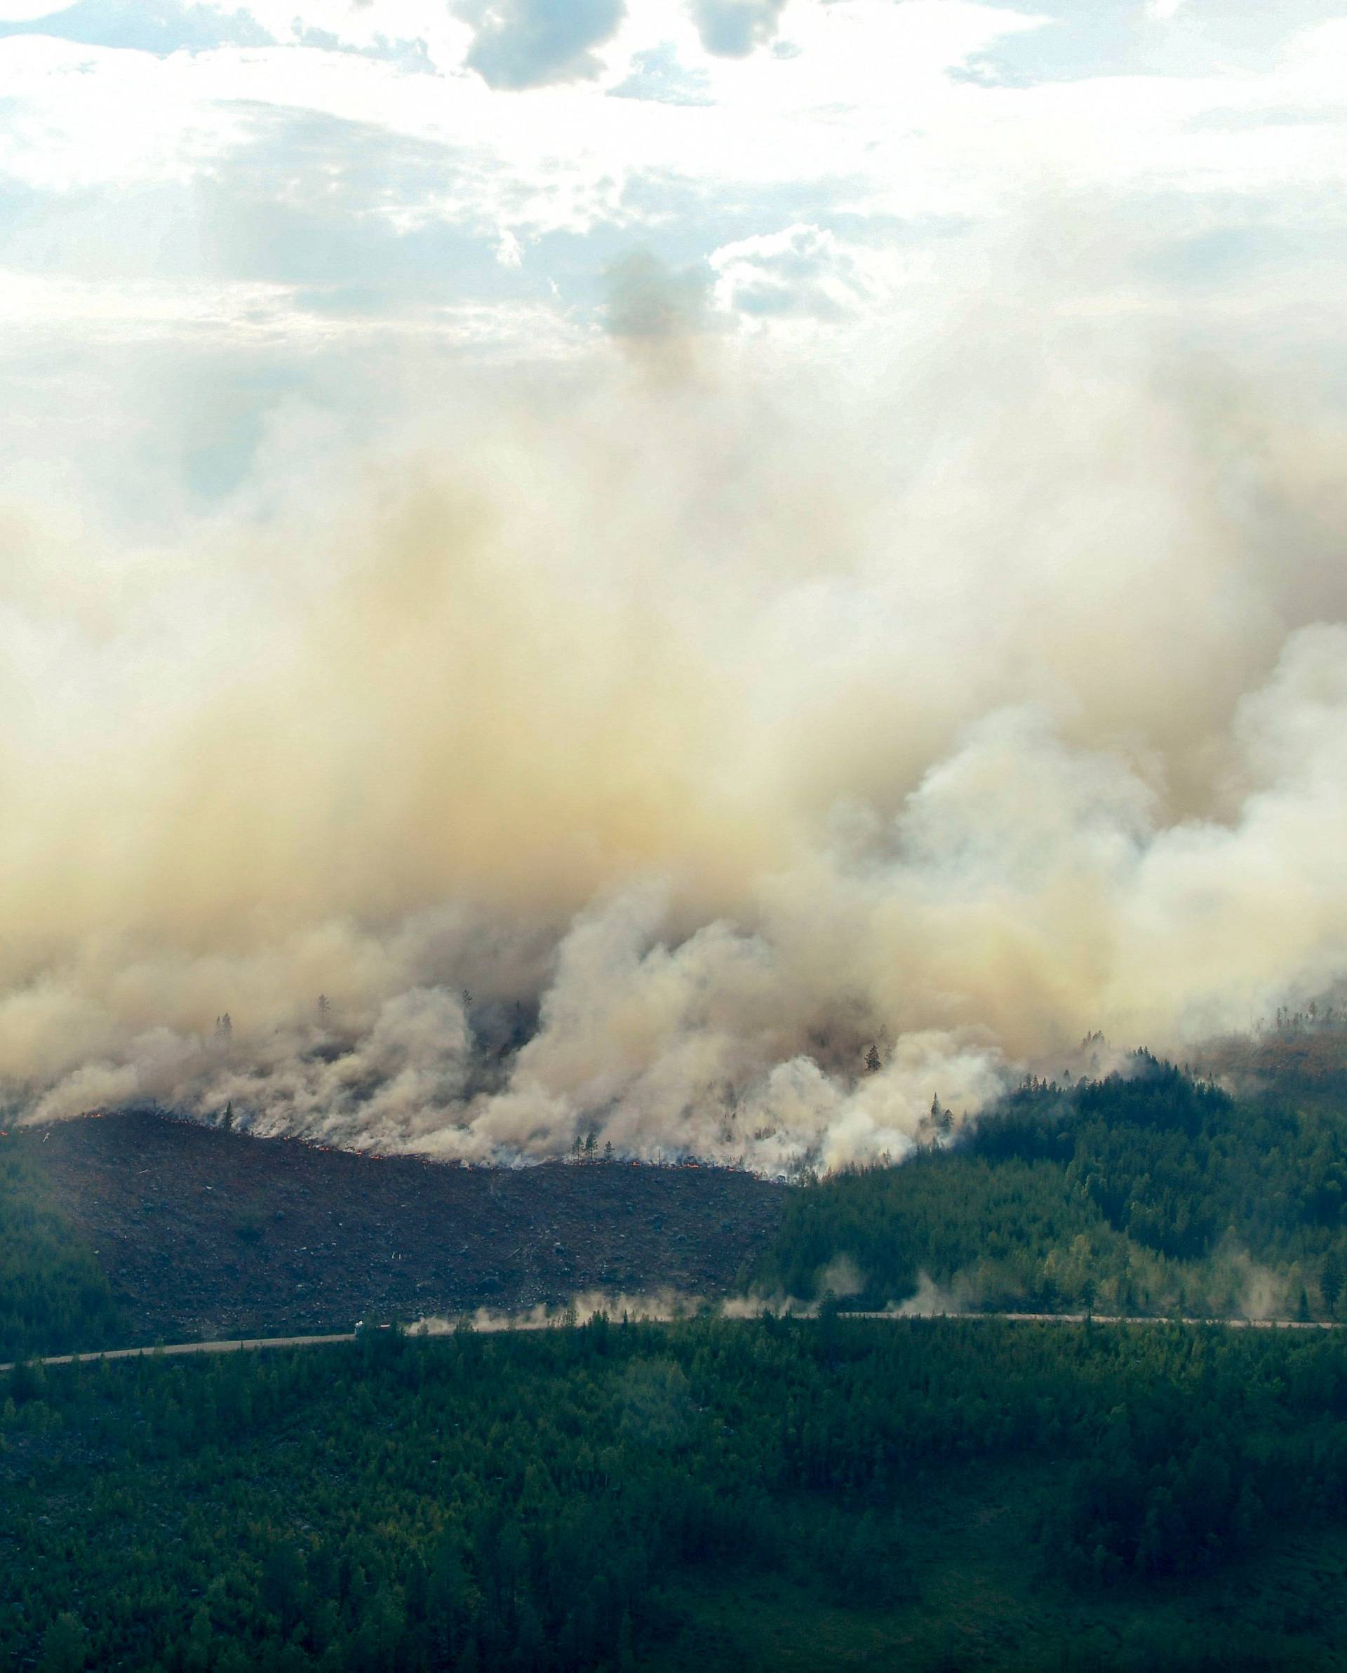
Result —
<instances>
[{"instance_id":1,"label":"bright cloudy pale-blue sky above the top of the smoke","mask_svg":"<svg viewBox=\"0 0 1347 1673\"><path fill-rule=\"evenodd\" d=\"M855 343L1051 204L1126 243L1083 304L1303 333L1345 64L1307 0L7 0L7 356L172 346L221 492L286 393L340 408L323 361L574 353L633 251L708 331Z\"/></svg>"}]
</instances>

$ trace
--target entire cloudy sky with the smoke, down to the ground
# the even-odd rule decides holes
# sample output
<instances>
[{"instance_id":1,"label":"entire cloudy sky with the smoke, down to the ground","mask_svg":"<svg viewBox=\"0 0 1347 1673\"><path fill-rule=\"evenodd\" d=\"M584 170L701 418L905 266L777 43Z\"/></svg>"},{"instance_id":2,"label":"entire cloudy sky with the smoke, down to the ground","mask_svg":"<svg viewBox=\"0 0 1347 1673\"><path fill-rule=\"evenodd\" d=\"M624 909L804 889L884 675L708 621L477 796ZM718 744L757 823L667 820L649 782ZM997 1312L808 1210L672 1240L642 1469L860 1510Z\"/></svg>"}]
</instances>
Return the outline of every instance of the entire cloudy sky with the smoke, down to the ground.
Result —
<instances>
[{"instance_id":1,"label":"entire cloudy sky with the smoke, down to the ground","mask_svg":"<svg viewBox=\"0 0 1347 1673\"><path fill-rule=\"evenodd\" d=\"M1345 127L1322 0L0 0L0 1101L790 1171L1342 984Z\"/></svg>"}]
</instances>

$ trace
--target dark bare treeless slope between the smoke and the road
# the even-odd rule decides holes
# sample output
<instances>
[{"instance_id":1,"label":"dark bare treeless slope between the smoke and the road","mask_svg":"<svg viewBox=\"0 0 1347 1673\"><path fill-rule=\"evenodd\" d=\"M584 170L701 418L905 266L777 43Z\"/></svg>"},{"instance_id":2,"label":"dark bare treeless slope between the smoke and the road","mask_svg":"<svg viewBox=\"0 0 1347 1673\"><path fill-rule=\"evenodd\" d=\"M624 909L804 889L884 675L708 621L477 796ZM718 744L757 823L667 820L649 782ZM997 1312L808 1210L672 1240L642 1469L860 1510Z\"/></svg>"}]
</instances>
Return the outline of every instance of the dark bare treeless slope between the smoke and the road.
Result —
<instances>
[{"instance_id":1,"label":"dark bare treeless slope between the smoke and the road","mask_svg":"<svg viewBox=\"0 0 1347 1673\"><path fill-rule=\"evenodd\" d=\"M728 1288L786 1188L709 1168L373 1158L152 1114L17 1134L84 1233L127 1342L348 1330L589 1288Z\"/></svg>"}]
</instances>

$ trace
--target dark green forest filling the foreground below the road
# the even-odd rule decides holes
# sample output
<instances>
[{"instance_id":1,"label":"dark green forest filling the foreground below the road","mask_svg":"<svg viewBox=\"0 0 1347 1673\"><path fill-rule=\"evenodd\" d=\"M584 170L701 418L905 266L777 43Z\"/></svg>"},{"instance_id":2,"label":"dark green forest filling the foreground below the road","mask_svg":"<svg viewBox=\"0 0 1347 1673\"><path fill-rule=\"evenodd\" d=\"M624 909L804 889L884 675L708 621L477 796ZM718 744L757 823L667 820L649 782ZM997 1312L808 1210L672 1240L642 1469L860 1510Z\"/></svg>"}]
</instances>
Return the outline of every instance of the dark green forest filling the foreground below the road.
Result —
<instances>
[{"instance_id":1,"label":"dark green forest filling the foreground below the road","mask_svg":"<svg viewBox=\"0 0 1347 1673\"><path fill-rule=\"evenodd\" d=\"M1337 1333L599 1318L20 1367L2 1410L0 1648L45 1673L1347 1653Z\"/></svg>"}]
</instances>

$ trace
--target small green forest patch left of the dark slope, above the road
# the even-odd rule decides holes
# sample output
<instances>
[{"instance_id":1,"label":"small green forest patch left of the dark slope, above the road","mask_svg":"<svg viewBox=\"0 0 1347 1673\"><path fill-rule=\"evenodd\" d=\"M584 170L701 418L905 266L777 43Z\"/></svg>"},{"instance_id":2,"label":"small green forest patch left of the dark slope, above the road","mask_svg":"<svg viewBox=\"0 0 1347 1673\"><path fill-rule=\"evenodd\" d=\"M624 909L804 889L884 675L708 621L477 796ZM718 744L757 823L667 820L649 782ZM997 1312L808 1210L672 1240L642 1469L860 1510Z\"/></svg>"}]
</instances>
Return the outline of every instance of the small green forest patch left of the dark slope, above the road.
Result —
<instances>
[{"instance_id":1,"label":"small green forest patch left of the dark slope, above the road","mask_svg":"<svg viewBox=\"0 0 1347 1673\"><path fill-rule=\"evenodd\" d=\"M117 1345L117 1308L94 1253L0 1134L0 1362Z\"/></svg>"}]
</instances>

